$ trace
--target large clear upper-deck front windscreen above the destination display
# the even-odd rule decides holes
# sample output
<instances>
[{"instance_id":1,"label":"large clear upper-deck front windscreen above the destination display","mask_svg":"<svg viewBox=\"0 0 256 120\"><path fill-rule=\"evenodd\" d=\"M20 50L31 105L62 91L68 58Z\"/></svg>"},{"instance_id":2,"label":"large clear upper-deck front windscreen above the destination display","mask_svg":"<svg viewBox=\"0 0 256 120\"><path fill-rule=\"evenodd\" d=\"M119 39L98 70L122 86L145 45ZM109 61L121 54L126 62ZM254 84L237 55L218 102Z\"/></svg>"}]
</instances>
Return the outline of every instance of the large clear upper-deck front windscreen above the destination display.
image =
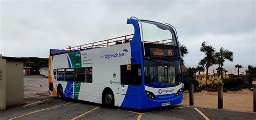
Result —
<instances>
[{"instance_id":1,"label":"large clear upper-deck front windscreen above the destination display","mask_svg":"<svg viewBox=\"0 0 256 120\"><path fill-rule=\"evenodd\" d=\"M142 27L144 42L148 41L170 43L173 46L177 45L176 41L173 40L173 34L171 32L171 29L167 25L152 21L142 21Z\"/></svg>"}]
</instances>

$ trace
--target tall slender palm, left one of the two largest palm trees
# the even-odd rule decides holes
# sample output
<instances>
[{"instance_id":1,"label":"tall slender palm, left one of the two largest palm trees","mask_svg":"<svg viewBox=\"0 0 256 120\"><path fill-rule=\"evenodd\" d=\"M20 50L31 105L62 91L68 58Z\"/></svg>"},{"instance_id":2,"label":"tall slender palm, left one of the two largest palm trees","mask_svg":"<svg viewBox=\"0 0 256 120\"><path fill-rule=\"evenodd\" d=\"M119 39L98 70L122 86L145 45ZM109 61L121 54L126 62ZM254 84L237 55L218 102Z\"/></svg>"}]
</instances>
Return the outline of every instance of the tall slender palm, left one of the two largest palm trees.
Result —
<instances>
[{"instance_id":1,"label":"tall slender palm, left one of the two largest palm trees","mask_svg":"<svg viewBox=\"0 0 256 120\"><path fill-rule=\"evenodd\" d=\"M206 80L208 80L208 70L210 66L215 62L214 61L214 53L215 48L213 48L211 45L207 45L207 42L204 41L201 45L200 51L205 53L206 58ZM206 82L206 90L207 90L207 82Z\"/></svg>"}]
</instances>

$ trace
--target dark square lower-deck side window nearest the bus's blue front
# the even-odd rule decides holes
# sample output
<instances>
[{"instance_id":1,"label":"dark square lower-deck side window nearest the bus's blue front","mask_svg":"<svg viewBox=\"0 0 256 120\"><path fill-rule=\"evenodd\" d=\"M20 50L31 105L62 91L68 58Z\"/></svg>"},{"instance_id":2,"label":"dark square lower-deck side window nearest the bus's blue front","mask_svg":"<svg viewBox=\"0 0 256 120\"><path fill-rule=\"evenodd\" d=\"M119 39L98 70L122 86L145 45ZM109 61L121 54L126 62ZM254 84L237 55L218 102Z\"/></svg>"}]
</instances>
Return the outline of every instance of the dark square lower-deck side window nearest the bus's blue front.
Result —
<instances>
[{"instance_id":1,"label":"dark square lower-deck side window nearest the bus's blue front","mask_svg":"<svg viewBox=\"0 0 256 120\"><path fill-rule=\"evenodd\" d=\"M121 67L121 85L142 85L142 69L140 64L131 65L131 70L127 70L127 65Z\"/></svg>"}]
</instances>

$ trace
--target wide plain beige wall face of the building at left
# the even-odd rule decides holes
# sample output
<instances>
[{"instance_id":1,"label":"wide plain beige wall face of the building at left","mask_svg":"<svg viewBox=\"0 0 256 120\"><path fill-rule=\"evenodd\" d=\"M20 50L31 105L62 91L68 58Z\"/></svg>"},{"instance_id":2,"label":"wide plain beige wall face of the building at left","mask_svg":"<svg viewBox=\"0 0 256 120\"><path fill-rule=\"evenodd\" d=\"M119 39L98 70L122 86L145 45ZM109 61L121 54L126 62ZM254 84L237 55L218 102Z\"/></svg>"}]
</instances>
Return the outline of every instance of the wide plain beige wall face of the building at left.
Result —
<instances>
[{"instance_id":1,"label":"wide plain beige wall face of the building at left","mask_svg":"<svg viewBox=\"0 0 256 120\"><path fill-rule=\"evenodd\" d=\"M6 107L23 104L23 62L6 60Z\"/></svg>"}]
</instances>

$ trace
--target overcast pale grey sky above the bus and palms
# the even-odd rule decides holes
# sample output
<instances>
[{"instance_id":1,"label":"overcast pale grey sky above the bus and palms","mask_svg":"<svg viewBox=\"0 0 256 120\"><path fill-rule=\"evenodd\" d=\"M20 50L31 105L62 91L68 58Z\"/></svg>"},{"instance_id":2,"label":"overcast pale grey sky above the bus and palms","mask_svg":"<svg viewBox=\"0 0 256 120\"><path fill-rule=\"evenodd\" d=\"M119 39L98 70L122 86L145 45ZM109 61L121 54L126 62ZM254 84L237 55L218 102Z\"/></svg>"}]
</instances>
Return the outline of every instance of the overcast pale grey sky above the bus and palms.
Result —
<instances>
[{"instance_id":1,"label":"overcast pale grey sky above the bus and palms","mask_svg":"<svg viewBox=\"0 0 256 120\"><path fill-rule=\"evenodd\" d=\"M225 65L256 64L255 1L1 1L0 54L48 58L64 49L133 34L126 20L172 24L189 54L185 65L204 58L201 43L233 51Z\"/></svg>"}]
</instances>

